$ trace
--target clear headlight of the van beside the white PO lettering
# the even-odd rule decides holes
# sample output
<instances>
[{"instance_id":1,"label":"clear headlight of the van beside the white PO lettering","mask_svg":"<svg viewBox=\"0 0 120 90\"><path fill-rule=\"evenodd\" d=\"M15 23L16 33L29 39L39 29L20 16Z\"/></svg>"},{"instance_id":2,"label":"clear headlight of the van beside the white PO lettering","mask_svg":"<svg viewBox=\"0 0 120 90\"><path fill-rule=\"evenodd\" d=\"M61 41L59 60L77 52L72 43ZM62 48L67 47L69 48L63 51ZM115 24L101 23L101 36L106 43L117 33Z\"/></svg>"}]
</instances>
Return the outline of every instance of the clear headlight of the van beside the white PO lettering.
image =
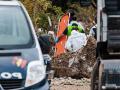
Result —
<instances>
[{"instance_id":1,"label":"clear headlight of the van beside the white PO lettering","mask_svg":"<svg viewBox=\"0 0 120 90\"><path fill-rule=\"evenodd\" d=\"M41 61L32 61L28 64L25 87L37 84L46 76L46 69Z\"/></svg>"}]
</instances>

